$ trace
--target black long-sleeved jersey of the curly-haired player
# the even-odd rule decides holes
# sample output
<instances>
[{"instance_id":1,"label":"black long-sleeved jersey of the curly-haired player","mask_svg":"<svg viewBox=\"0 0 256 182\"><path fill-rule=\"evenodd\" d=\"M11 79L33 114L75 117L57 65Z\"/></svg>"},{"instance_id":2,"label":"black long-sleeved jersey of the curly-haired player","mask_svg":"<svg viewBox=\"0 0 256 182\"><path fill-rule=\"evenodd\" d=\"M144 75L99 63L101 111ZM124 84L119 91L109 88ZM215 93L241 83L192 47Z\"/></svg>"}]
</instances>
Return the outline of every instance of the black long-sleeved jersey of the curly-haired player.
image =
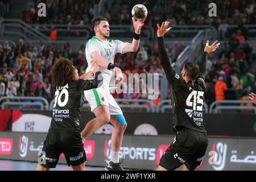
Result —
<instances>
[{"instance_id":1,"label":"black long-sleeved jersey of the curly-haired player","mask_svg":"<svg viewBox=\"0 0 256 182\"><path fill-rule=\"evenodd\" d=\"M57 86L53 105L52 122L49 129L80 132L80 116L84 90L97 88L102 80L96 73L95 80L71 81L65 86Z\"/></svg>"}]
</instances>

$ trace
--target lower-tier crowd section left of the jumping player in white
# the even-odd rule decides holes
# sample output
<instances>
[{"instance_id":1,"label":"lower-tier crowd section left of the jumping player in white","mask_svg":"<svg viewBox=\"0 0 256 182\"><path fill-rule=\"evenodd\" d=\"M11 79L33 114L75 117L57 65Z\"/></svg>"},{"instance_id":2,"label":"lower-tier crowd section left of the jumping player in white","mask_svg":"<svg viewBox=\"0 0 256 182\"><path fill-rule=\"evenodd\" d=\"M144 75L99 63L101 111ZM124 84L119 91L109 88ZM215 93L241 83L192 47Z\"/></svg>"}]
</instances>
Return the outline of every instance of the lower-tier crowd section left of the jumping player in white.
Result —
<instances>
[{"instance_id":1,"label":"lower-tier crowd section left of the jumping player in white","mask_svg":"<svg viewBox=\"0 0 256 182\"><path fill-rule=\"evenodd\" d=\"M80 68L85 60L72 57L71 46L48 47L42 42L27 45L20 39L16 47L6 41L0 45L0 97L40 96L52 100L55 88L51 86L51 69L57 57L71 59Z\"/></svg>"}]
</instances>

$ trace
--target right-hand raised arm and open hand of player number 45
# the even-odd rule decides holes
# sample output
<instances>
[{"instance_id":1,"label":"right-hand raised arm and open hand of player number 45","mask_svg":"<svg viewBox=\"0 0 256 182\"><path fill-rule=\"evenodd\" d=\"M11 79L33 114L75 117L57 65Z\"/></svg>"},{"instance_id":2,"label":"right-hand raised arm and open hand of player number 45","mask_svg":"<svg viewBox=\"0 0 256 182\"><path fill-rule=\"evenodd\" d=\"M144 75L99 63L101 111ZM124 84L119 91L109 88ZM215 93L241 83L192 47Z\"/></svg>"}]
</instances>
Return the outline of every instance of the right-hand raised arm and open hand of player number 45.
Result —
<instances>
[{"instance_id":1,"label":"right-hand raised arm and open hand of player number 45","mask_svg":"<svg viewBox=\"0 0 256 182\"><path fill-rule=\"evenodd\" d=\"M211 46L209 46L209 40L207 40L207 43L204 48L204 55L203 59L201 61L200 69L199 69L199 76L204 77L207 71L207 60L208 60L208 55L211 52L216 51L220 43L218 43L218 40L216 40Z\"/></svg>"}]
</instances>

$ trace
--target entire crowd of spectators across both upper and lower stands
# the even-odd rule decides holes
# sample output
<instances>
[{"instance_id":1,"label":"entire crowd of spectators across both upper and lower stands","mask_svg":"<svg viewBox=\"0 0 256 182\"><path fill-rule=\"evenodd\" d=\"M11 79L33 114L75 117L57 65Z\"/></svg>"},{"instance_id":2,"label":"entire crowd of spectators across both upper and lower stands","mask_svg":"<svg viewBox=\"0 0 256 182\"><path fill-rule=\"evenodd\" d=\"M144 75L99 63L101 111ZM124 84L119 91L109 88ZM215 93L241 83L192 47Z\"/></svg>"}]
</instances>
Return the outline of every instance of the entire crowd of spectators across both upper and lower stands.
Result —
<instances>
[{"instance_id":1,"label":"entire crowd of spectators across both upper and lower stands","mask_svg":"<svg viewBox=\"0 0 256 182\"><path fill-rule=\"evenodd\" d=\"M3 2L3 3L1 3ZM8 1L0 1L1 7ZM27 9L23 12L23 20L27 23L56 23L56 24L90 24L97 14L97 0L90 1L44 1L47 5L47 18L36 16L39 2L29 0ZM167 3L168 2L168 3ZM251 65L252 48L247 43L247 30L242 24L256 23L255 1L226 0L213 1L217 4L216 18L209 18L208 5L212 1L106 1L106 18L111 24L131 23L131 8L136 3L143 3L148 9L147 26L152 26L171 18L171 24L212 24L219 32L225 30L225 24L240 24L236 31L230 34L228 41L221 44L221 48L209 56L207 75L205 76L207 91L205 101L211 104L215 100L240 99L250 92L256 92L255 75L249 73ZM202 13L202 7L205 12ZM82 8L81 8L82 7ZM201 12L201 13L199 13ZM154 15L154 16L153 16ZM155 28L155 27L154 27ZM205 43L204 43L205 44ZM184 43L174 42L166 45L167 53L172 62L185 48ZM0 97L2 96L42 96L51 101L54 97L54 88L51 86L51 68L57 57L63 56L70 59L82 74L87 66L85 46L82 45L79 54L72 52L67 43L63 47L49 47L43 43L35 46L33 43L24 44L20 39L16 47L11 47L8 42L0 45ZM155 40L146 40L138 52L115 55L115 65L123 73L160 73L158 44ZM134 83L138 84L138 83ZM134 86L133 85L133 86ZM156 88L159 92L159 88ZM228 92L230 91L230 92ZM229 95L232 93L232 96ZM117 94L115 98L147 98L144 93ZM171 98L171 88L167 97ZM155 101L155 105L159 99Z\"/></svg>"}]
</instances>

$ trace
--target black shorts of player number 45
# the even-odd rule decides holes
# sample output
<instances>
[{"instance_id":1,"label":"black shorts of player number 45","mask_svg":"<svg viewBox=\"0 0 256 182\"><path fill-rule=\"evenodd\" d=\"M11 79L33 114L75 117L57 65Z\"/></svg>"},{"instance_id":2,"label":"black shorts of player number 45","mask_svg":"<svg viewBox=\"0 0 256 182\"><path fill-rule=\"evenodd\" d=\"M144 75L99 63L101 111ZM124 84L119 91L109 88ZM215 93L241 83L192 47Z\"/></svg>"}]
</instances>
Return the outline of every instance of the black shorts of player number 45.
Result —
<instances>
[{"instance_id":1,"label":"black shorts of player number 45","mask_svg":"<svg viewBox=\"0 0 256 182\"><path fill-rule=\"evenodd\" d=\"M194 170L203 160L207 147L207 133L181 129L164 152L159 166L172 171L185 164L189 170Z\"/></svg>"}]
</instances>

